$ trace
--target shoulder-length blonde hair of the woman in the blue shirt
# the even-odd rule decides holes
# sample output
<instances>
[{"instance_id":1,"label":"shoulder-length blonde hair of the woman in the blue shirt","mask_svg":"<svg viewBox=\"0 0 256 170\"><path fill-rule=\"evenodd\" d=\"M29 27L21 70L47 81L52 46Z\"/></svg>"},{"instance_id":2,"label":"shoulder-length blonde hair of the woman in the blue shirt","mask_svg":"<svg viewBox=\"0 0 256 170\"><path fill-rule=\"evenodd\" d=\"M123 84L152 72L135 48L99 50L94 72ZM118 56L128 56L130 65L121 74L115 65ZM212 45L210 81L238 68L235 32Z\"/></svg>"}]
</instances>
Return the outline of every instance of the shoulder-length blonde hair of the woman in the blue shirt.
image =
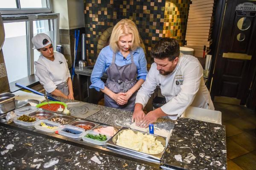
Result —
<instances>
[{"instance_id":1,"label":"shoulder-length blonde hair of the woman in the blue shirt","mask_svg":"<svg viewBox=\"0 0 256 170\"><path fill-rule=\"evenodd\" d=\"M131 50L137 49L140 46L140 35L137 26L132 20L122 19L113 28L109 45L114 52L119 51L118 41L122 35L132 35Z\"/></svg>"}]
</instances>

